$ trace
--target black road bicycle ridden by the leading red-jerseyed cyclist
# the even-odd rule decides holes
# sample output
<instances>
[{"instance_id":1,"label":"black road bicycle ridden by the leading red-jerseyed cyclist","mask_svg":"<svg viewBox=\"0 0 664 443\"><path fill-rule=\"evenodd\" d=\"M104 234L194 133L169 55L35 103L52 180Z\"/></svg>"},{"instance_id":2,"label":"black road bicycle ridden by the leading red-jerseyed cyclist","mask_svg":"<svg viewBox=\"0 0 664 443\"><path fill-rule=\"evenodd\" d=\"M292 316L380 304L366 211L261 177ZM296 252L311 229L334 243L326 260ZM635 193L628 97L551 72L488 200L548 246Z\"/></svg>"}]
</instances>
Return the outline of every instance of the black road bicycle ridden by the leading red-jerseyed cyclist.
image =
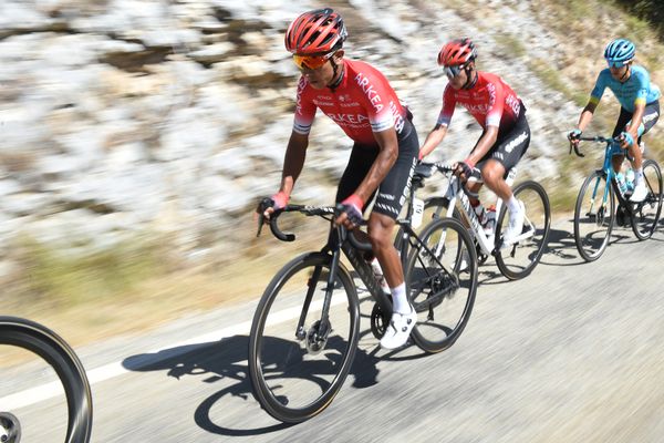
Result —
<instances>
[{"instance_id":1,"label":"black road bicycle ridden by the leading red-jerseyed cyclist","mask_svg":"<svg viewBox=\"0 0 664 443\"><path fill-rule=\"evenodd\" d=\"M341 210L289 205L272 214L269 226L278 239L293 241L295 236L277 225L281 214L298 212L331 222ZM477 257L458 220L439 218L416 234L412 213L409 205L406 218L397 220L404 233L400 251L408 297L418 313L411 339L435 353L449 348L468 322L477 290ZM363 257L371 245L343 226L331 225L330 231L331 240L320 251L302 254L277 272L251 326L248 361L253 395L286 423L302 422L328 408L351 369L360 338L360 300L342 255L375 301L374 337L382 337L392 315L391 297Z\"/></svg>"}]
</instances>

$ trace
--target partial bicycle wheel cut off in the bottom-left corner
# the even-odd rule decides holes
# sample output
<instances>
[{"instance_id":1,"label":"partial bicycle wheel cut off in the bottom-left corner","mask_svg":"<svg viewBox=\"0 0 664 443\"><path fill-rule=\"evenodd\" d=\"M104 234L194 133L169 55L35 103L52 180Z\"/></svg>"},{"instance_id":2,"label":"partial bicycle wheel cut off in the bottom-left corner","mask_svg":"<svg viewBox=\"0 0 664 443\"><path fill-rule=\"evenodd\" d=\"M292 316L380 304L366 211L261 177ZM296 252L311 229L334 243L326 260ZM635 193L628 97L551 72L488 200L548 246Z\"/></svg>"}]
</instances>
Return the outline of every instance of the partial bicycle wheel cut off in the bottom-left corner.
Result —
<instances>
[{"instance_id":1,"label":"partial bicycle wheel cut off in the bottom-left corner","mask_svg":"<svg viewBox=\"0 0 664 443\"><path fill-rule=\"evenodd\" d=\"M63 393L27 408L18 393L42 383ZM91 431L90 384L72 348L41 324L0 317L0 441L86 443Z\"/></svg>"}]
</instances>

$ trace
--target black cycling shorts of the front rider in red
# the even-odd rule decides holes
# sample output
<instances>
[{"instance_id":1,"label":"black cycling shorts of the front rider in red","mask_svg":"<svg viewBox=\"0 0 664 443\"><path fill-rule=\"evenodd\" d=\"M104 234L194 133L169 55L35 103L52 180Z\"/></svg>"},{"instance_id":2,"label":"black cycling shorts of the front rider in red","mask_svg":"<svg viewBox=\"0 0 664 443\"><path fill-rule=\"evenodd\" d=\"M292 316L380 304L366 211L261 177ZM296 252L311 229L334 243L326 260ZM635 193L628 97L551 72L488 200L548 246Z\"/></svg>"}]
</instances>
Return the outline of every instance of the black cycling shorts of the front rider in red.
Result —
<instances>
[{"instance_id":1,"label":"black cycling shorts of the front rider in red","mask_svg":"<svg viewBox=\"0 0 664 443\"><path fill-rule=\"evenodd\" d=\"M376 189L377 196L374 192L366 202L369 204L376 196L373 210L392 219L398 217L408 196L413 172L417 164L417 154L419 153L419 142L415 126L408 121L406 125L411 127L404 127L402 135L398 136L398 157L396 162L394 162L392 169ZM336 203L343 202L357 190L378 153L380 147L377 145L367 146L357 143L353 145L351 158L339 182Z\"/></svg>"}]
</instances>

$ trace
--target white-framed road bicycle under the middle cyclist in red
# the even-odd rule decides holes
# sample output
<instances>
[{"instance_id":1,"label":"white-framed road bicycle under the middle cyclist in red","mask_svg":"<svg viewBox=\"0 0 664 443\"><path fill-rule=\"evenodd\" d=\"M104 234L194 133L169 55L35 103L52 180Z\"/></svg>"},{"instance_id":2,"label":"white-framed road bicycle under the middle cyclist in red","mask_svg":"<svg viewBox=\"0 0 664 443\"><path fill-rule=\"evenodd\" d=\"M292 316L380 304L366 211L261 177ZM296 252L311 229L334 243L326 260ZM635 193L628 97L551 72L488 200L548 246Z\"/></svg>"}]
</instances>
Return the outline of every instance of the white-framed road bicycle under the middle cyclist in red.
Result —
<instances>
[{"instance_id":1,"label":"white-framed road bicycle under the middle cyclist in red","mask_svg":"<svg viewBox=\"0 0 664 443\"><path fill-rule=\"evenodd\" d=\"M502 245L501 233L502 226L506 225L507 205L501 198L496 200L498 216L494 231L487 234L470 206L469 198L477 198L478 195L468 190L459 177L454 175L455 168L452 165L442 162L421 163L418 168L427 176L439 172L449 179L444 197L434 196L425 200L427 217L435 219L444 215L461 219L473 236L480 265L486 262L489 256L494 256L500 272L510 280L521 279L532 272L541 259L551 229L549 196L539 183L526 181L515 186L513 195L523 202L526 208L523 229L513 243ZM508 171L508 186L512 186L516 175L516 167Z\"/></svg>"}]
</instances>

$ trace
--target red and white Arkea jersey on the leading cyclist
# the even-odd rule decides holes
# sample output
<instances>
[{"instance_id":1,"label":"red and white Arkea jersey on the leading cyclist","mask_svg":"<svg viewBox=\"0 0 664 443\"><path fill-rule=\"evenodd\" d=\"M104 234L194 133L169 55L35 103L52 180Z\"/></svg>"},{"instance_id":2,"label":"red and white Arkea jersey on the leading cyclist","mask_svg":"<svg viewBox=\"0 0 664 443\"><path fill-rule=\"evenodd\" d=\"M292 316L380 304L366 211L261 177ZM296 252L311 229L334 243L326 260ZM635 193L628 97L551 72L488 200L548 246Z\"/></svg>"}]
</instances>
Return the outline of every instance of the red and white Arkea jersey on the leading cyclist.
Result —
<instances>
[{"instance_id":1,"label":"red and white Arkea jersey on the leading cyclist","mask_svg":"<svg viewBox=\"0 0 664 443\"><path fill-rule=\"evenodd\" d=\"M300 78L293 131L309 134L320 109L359 144L375 145L373 133L393 126L401 134L406 111L387 79L364 62L343 60L343 79L334 91L315 90L305 75Z\"/></svg>"}]
</instances>

